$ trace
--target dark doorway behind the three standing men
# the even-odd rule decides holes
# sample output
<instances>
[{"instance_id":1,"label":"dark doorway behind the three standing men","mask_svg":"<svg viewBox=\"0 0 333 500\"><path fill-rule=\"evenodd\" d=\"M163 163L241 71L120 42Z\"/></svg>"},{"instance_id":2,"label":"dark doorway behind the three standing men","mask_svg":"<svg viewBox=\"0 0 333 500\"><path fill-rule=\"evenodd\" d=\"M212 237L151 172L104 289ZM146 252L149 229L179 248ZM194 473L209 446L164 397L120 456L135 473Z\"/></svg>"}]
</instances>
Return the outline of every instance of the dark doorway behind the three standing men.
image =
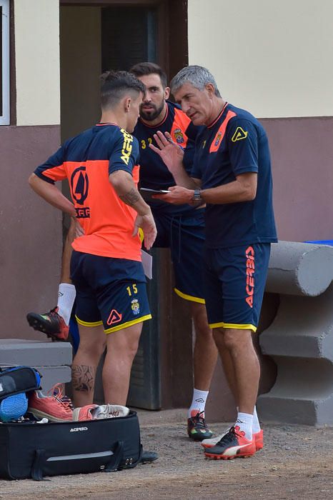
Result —
<instances>
[{"instance_id":1,"label":"dark doorway behind the three standing men","mask_svg":"<svg viewBox=\"0 0 333 500\"><path fill-rule=\"evenodd\" d=\"M62 141L99 120L102 71L152 61L173 76L187 63L186 13L184 0L61 2ZM144 409L183 406L192 390L189 314L172 292L169 251L154 250L153 260L148 284L153 319L144 322L128 399ZM103 400L100 380L95 396Z\"/></svg>"}]
</instances>

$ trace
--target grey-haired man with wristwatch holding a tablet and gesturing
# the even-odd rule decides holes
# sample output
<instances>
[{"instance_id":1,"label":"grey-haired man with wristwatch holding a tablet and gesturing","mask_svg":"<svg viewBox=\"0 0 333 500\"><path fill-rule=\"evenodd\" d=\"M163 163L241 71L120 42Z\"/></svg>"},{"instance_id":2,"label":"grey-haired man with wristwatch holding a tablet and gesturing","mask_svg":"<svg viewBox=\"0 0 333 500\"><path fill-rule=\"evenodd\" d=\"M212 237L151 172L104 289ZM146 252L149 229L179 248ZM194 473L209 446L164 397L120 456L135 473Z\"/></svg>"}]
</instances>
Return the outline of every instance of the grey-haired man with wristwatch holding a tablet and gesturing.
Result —
<instances>
[{"instance_id":1,"label":"grey-haired man with wristwatch holding a tablet and gesturing","mask_svg":"<svg viewBox=\"0 0 333 500\"><path fill-rule=\"evenodd\" d=\"M213 459L252 456L263 446L255 407L260 367L252 332L259 321L270 246L277 241L267 134L252 114L222 99L214 76L202 66L183 68L171 88L192 123L204 129L197 137L191 176L170 136L155 136L159 148L150 147L178 184L158 196L172 204L206 203L204 296L238 406L234 426L202 445Z\"/></svg>"}]
</instances>

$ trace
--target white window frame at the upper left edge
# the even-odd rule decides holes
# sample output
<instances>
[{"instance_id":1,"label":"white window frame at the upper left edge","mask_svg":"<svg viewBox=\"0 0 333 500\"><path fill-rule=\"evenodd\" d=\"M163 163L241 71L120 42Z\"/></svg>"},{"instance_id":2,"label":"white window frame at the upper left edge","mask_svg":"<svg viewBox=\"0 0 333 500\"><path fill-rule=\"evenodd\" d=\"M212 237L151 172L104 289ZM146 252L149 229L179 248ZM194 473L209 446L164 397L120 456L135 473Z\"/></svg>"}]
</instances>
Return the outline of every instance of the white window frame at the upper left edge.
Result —
<instances>
[{"instance_id":1,"label":"white window frame at the upper left edge","mask_svg":"<svg viewBox=\"0 0 333 500\"><path fill-rule=\"evenodd\" d=\"M9 68L9 0L0 0L2 8L2 114L0 114L0 125L10 124L10 68Z\"/></svg>"}]
</instances>

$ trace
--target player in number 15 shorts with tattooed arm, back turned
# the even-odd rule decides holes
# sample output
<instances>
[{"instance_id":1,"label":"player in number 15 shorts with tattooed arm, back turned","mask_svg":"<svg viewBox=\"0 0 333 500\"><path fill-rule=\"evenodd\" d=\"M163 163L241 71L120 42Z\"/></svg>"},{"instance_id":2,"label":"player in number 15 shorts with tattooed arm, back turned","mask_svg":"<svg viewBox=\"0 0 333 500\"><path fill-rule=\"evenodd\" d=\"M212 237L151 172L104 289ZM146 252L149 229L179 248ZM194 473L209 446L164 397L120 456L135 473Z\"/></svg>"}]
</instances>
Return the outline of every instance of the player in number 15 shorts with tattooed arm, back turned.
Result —
<instances>
[{"instance_id":1,"label":"player in number 15 shorts with tattooed arm, back turned","mask_svg":"<svg viewBox=\"0 0 333 500\"><path fill-rule=\"evenodd\" d=\"M39 196L75 217L71 280L76 288L80 344L72 364L75 406L92 404L96 367L106 346L105 403L126 405L142 322L151 318L138 229L150 248L156 226L137 190L139 148L131 136L144 85L125 71L101 86L101 122L64 143L31 174ZM73 203L54 181L69 180Z\"/></svg>"}]
</instances>

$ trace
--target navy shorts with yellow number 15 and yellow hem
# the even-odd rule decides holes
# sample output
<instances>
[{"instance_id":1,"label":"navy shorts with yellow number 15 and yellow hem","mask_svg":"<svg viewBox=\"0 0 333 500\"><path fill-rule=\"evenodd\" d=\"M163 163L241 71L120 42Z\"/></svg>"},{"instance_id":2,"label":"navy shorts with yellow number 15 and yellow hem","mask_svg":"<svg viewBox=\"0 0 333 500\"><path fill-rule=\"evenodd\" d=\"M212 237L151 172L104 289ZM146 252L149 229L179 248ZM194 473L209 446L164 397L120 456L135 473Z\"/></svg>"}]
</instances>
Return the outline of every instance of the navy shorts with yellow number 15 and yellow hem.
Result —
<instances>
[{"instance_id":1,"label":"navy shorts with yellow number 15 and yellow hem","mask_svg":"<svg viewBox=\"0 0 333 500\"><path fill-rule=\"evenodd\" d=\"M73 251L71 281L76 288L76 320L103 324L106 334L151 319L141 262Z\"/></svg>"}]
</instances>

